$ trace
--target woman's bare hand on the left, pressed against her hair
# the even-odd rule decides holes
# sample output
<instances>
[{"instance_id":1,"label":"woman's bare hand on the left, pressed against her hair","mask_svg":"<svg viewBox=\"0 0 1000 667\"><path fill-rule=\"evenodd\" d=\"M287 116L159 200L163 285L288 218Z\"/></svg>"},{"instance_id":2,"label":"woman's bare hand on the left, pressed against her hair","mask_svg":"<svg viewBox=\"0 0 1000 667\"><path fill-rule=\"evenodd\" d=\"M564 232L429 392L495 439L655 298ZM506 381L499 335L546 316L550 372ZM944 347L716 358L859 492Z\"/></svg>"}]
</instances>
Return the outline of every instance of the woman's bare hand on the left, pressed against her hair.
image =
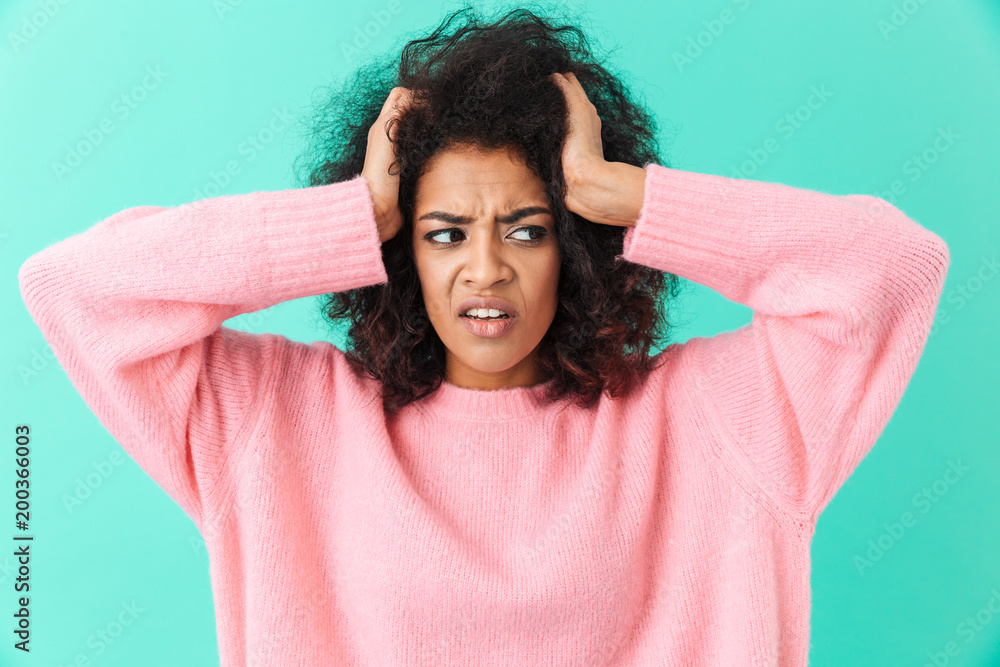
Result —
<instances>
[{"instance_id":1,"label":"woman's bare hand on the left, pressed against her hair","mask_svg":"<svg viewBox=\"0 0 1000 667\"><path fill-rule=\"evenodd\" d=\"M403 227L403 214L399 211L399 174L389 174L389 167L396 160L396 151L392 141L386 137L386 124L402 115L412 100L412 90L401 86L393 88L382 105L378 119L368 130L368 148L361 176L368 181L371 190L375 222L382 243L394 237ZM395 124L389 131L395 141Z\"/></svg>"}]
</instances>

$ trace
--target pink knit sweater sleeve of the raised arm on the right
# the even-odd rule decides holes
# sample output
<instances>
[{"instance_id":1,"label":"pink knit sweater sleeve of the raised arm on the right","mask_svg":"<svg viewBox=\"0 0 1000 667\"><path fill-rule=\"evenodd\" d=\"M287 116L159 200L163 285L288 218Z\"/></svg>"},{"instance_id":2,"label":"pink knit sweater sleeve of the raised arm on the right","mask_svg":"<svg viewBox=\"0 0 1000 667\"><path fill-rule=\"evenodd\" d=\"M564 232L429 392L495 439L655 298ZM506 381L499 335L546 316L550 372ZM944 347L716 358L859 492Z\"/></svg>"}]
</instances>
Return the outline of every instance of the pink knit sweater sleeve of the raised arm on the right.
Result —
<instances>
[{"instance_id":1,"label":"pink knit sweater sleeve of the raised arm on the right","mask_svg":"<svg viewBox=\"0 0 1000 667\"><path fill-rule=\"evenodd\" d=\"M723 462L815 521L913 375L944 286L944 241L870 195L645 166L624 259L705 285L751 323L685 343L682 367L727 434Z\"/></svg>"}]
</instances>

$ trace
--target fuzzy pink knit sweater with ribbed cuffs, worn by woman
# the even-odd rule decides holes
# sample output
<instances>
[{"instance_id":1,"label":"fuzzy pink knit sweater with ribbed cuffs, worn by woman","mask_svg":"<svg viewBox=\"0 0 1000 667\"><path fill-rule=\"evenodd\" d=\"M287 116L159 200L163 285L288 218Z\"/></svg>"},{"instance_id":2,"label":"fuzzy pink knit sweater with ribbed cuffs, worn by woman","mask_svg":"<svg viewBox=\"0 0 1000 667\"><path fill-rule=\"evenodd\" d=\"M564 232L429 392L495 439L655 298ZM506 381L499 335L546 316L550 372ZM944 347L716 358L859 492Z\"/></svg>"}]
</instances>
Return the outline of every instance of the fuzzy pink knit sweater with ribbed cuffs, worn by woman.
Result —
<instances>
[{"instance_id":1,"label":"fuzzy pink knit sweater with ribbed cuffs, worn by woman","mask_svg":"<svg viewBox=\"0 0 1000 667\"><path fill-rule=\"evenodd\" d=\"M206 540L222 665L806 664L816 520L948 248L868 195L645 169L624 258L752 323L589 410L445 383L387 418L330 343L221 326L387 280L361 177L129 208L24 263L83 400Z\"/></svg>"}]
</instances>

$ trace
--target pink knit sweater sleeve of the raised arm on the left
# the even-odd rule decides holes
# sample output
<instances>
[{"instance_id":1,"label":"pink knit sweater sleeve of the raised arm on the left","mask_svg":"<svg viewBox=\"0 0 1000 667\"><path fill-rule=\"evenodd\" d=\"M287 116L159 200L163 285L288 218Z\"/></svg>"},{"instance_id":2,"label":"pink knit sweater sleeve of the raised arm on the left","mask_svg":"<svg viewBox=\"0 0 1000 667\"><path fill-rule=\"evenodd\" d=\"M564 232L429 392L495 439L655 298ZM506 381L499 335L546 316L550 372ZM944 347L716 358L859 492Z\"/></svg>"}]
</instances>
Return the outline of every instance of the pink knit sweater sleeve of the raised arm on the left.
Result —
<instances>
[{"instance_id":1,"label":"pink knit sweater sleeve of the raised arm on the left","mask_svg":"<svg viewBox=\"0 0 1000 667\"><path fill-rule=\"evenodd\" d=\"M287 342L222 323L388 277L357 176L128 208L28 258L18 280L88 407L201 530Z\"/></svg>"}]
</instances>

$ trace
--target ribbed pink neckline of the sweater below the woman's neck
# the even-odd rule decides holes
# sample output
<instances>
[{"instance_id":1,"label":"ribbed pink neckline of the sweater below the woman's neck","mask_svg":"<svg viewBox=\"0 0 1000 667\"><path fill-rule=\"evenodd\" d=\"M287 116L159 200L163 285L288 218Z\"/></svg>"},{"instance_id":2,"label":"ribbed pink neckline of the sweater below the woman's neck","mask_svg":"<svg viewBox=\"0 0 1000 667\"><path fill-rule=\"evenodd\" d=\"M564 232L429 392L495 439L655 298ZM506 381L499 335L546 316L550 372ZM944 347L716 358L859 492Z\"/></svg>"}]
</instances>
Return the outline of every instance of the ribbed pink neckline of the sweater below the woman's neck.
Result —
<instances>
[{"instance_id":1,"label":"ribbed pink neckline of the sweater below the woman's neck","mask_svg":"<svg viewBox=\"0 0 1000 667\"><path fill-rule=\"evenodd\" d=\"M505 389L469 389L442 381L417 406L430 416L450 419L507 421L537 418L554 407L564 407L565 401L548 401L546 390L553 380L530 387Z\"/></svg>"}]
</instances>

